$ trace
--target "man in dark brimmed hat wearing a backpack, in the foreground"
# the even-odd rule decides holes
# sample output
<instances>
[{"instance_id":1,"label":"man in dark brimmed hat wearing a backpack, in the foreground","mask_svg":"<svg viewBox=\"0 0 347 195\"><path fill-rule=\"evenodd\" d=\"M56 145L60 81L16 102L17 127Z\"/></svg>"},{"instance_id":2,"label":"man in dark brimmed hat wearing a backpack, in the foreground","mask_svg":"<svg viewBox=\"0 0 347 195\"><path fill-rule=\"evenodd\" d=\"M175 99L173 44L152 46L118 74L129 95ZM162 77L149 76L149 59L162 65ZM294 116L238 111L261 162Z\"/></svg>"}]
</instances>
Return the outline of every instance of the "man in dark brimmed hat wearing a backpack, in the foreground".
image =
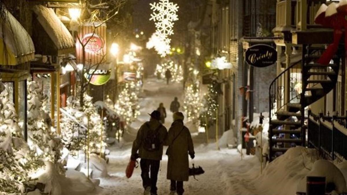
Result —
<instances>
[{"instance_id":1,"label":"man in dark brimmed hat wearing a backpack, in the foreground","mask_svg":"<svg viewBox=\"0 0 347 195\"><path fill-rule=\"evenodd\" d=\"M156 195L158 189L156 182L163 155L163 143L168 132L159 122L160 112L155 110L150 116L150 121L145 122L137 132L131 158L134 160L138 155L141 158L140 167L142 184L145 189L144 194ZM139 154L137 154L137 151L139 151ZM151 172L151 175L149 172Z\"/></svg>"}]
</instances>

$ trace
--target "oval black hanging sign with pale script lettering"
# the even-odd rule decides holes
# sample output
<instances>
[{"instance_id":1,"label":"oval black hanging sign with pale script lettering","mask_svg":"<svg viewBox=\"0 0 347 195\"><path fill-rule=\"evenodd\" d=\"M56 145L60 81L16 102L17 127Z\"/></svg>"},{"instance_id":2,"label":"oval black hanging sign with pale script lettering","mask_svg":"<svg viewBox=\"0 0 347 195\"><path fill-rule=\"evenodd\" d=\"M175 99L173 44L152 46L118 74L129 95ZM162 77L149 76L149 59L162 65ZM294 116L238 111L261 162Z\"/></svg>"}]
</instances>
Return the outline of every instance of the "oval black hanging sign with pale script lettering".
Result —
<instances>
[{"instance_id":1,"label":"oval black hanging sign with pale script lettering","mask_svg":"<svg viewBox=\"0 0 347 195\"><path fill-rule=\"evenodd\" d=\"M257 44L246 50L246 62L254 67L263 68L277 61L277 51L270 45Z\"/></svg>"}]
</instances>

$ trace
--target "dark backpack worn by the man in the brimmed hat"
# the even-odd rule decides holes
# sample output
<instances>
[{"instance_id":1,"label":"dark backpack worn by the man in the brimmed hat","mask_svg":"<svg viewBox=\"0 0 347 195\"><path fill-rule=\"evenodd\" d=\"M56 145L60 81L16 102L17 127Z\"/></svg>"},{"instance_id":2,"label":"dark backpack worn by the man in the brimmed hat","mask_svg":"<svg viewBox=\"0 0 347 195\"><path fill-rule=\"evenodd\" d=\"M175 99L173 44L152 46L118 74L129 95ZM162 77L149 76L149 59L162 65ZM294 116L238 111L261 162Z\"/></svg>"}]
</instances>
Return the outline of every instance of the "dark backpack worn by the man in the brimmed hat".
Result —
<instances>
[{"instance_id":1,"label":"dark backpack worn by the man in the brimmed hat","mask_svg":"<svg viewBox=\"0 0 347 195\"><path fill-rule=\"evenodd\" d=\"M148 131L145 135L145 140L144 140L144 144L143 144L143 148L147 151L157 151L160 149L161 146L161 142L159 139L159 129L161 128L161 124L153 131L151 130L150 126L148 123L146 123L147 127L148 127Z\"/></svg>"}]
</instances>

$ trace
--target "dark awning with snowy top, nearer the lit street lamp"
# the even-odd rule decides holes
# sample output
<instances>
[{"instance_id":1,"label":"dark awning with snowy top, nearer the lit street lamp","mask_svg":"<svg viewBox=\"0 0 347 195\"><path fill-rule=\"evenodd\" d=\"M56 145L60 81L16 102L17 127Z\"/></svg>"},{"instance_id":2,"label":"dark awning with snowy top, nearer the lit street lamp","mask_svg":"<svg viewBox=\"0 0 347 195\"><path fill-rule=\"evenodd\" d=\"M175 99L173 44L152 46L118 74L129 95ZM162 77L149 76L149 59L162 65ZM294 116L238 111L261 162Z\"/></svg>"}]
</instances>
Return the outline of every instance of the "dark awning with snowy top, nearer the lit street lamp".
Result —
<instances>
[{"instance_id":1,"label":"dark awning with snowy top, nearer the lit street lamp","mask_svg":"<svg viewBox=\"0 0 347 195\"><path fill-rule=\"evenodd\" d=\"M36 53L50 56L75 53L74 39L53 9L36 5L33 11L36 15L33 21Z\"/></svg>"}]
</instances>

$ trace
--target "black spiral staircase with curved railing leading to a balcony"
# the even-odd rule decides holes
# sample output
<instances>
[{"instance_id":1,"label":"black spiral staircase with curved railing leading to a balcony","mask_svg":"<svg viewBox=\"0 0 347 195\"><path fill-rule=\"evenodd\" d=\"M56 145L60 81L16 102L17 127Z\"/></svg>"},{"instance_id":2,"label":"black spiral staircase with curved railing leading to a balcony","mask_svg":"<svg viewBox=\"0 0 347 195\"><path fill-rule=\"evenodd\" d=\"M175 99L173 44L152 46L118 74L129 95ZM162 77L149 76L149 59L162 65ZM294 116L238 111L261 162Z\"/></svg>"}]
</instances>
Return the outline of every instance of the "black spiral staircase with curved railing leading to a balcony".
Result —
<instances>
[{"instance_id":1,"label":"black spiral staircase with curved railing leading to a balcony","mask_svg":"<svg viewBox=\"0 0 347 195\"><path fill-rule=\"evenodd\" d=\"M319 64L324 50L324 46L303 45L302 60L290 65L270 85L270 161L290 147L305 145L305 107L336 86L339 55L333 57L331 64Z\"/></svg>"}]
</instances>

